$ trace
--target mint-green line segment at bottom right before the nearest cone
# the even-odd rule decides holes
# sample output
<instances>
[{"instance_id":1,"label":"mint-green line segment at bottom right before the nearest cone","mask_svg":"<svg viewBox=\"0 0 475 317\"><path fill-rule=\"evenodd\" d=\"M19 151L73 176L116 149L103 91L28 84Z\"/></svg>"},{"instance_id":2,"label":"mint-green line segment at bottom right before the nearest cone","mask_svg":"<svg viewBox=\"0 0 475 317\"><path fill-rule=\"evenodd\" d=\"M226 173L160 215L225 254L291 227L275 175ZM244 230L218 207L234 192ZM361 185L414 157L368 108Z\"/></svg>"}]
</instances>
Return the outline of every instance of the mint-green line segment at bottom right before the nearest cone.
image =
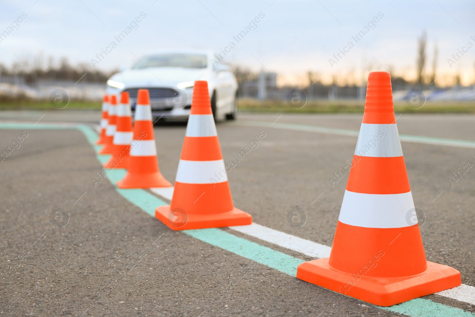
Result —
<instances>
[{"instance_id":1,"label":"mint-green line segment at bottom right before the nearest cone","mask_svg":"<svg viewBox=\"0 0 475 317\"><path fill-rule=\"evenodd\" d=\"M407 302L390 307L380 307L381 309L392 311L411 317L473 317L474 313L464 311L459 308L446 306L424 298L416 298Z\"/></svg>"}]
</instances>

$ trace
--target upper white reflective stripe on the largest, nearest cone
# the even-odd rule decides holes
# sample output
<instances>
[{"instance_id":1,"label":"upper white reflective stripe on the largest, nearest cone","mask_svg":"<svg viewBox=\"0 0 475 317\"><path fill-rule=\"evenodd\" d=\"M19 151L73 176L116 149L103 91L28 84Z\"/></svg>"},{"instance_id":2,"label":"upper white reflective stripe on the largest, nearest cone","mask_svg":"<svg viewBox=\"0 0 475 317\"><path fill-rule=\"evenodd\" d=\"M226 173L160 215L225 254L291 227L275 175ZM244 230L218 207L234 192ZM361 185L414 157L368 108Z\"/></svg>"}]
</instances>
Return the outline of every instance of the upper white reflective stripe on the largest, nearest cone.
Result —
<instances>
[{"instance_id":1,"label":"upper white reflective stripe on the largest, nearest cone","mask_svg":"<svg viewBox=\"0 0 475 317\"><path fill-rule=\"evenodd\" d=\"M397 125L362 123L355 155L372 157L402 156Z\"/></svg>"}]
</instances>

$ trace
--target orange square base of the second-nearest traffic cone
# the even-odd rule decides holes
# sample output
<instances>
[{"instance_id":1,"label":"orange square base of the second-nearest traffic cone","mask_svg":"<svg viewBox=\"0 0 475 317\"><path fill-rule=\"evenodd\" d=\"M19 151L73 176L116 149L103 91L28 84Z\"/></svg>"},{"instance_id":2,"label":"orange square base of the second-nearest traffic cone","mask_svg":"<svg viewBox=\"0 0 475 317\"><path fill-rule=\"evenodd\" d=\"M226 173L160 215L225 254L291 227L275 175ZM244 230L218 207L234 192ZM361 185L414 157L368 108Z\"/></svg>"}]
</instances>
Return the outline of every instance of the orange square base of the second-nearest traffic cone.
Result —
<instances>
[{"instance_id":1,"label":"orange square base of the second-nearest traffic cone","mask_svg":"<svg viewBox=\"0 0 475 317\"><path fill-rule=\"evenodd\" d=\"M189 230L219 228L229 226L244 226L252 224L252 216L245 211L234 208L232 211L212 214L188 214L187 221L174 223L169 218L171 214L170 205L160 206L155 210L155 218L163 222L171 230Z\"/></svg>"}]
</instances>

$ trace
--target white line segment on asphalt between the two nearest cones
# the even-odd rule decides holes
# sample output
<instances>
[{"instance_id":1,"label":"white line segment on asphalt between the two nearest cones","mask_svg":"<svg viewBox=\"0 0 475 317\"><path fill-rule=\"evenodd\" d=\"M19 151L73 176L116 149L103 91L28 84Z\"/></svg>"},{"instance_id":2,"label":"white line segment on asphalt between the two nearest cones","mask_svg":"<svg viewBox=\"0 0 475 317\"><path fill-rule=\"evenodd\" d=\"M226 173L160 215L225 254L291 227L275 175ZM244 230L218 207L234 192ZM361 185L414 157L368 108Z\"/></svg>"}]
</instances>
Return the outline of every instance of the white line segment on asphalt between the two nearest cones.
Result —
<instances>
[{"instance_id":1,"label":"white line segment on asphalt between the two nearest cones","mask_svg":"<svg viewBox=\"0 0 475 317\"><path fill-rule=\"evenodd\" d=\"M254 222L247 226L233 226L229 228L257 239L276 244L280 247L303 253L312 258L322 259L330 256L330 247L314 241L295 237L285 232L267 228Z\"/></svg>"}]
</instances>

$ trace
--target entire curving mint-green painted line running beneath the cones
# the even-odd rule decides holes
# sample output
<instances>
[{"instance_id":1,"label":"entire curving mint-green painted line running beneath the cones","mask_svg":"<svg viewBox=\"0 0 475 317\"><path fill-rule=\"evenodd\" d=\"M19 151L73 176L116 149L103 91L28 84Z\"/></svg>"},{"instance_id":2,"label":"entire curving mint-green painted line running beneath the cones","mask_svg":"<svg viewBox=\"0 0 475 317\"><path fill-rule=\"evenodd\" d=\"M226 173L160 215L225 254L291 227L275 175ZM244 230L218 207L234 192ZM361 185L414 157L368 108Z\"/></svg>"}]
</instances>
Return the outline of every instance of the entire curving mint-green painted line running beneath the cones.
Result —
<instances>
[{"instance_id":1,"label":"entire curving mint-green painted line running beneath the cones","mask_svg":"<svg viewBox=\"0 0 475 317\"><path fill-rule=\"evenodd\" d=\"M12 123L5 125L3 123L0 123L0 129L22 129L24 128L23 126L27 125L15 125ZM61 129L62 127L58 125L55 125L53 127L52 125L44 124L38 125L38 127L37 125L28 125L28 128ZM80 130L85 134L87 141L94 147L95 152L97 153L97 151L101 148L101 146L95 145L95 141L97 140L97 134L92 132L86 126L76 125L74 128ZM108 155L96 154L96 156L100 162L107 160L108 158ZM111 182L115 186L115 182L120 180L124 174L125 170L115 169L112 170L110 173L107 173L107 178L109 178L109 180L111 180ZM126 200L133 203L152 217L155 217L155 209L158 206L167 204L158 197L142 189L119 189L116 186L115 188L116 191L122 197L124 197ZM251 242L246 239L237 237L233 234L230 234L226 231L217 228L187 230L182 232L198 240L217 246L223 250L227 250L244 258L251 259L270 268L279 270L292 277L296 277L297 266L305 262L303 259L294 258L285 253L272 250L265 246L261 246L255 242ZM474 313L467 312L459 308L439 304L432 300L424 298L412 299L399 305L394 305L390 307L374 307L378 307L380 309L403 314L410 317L475 317Z\"/></svg>"}]
</instances>

